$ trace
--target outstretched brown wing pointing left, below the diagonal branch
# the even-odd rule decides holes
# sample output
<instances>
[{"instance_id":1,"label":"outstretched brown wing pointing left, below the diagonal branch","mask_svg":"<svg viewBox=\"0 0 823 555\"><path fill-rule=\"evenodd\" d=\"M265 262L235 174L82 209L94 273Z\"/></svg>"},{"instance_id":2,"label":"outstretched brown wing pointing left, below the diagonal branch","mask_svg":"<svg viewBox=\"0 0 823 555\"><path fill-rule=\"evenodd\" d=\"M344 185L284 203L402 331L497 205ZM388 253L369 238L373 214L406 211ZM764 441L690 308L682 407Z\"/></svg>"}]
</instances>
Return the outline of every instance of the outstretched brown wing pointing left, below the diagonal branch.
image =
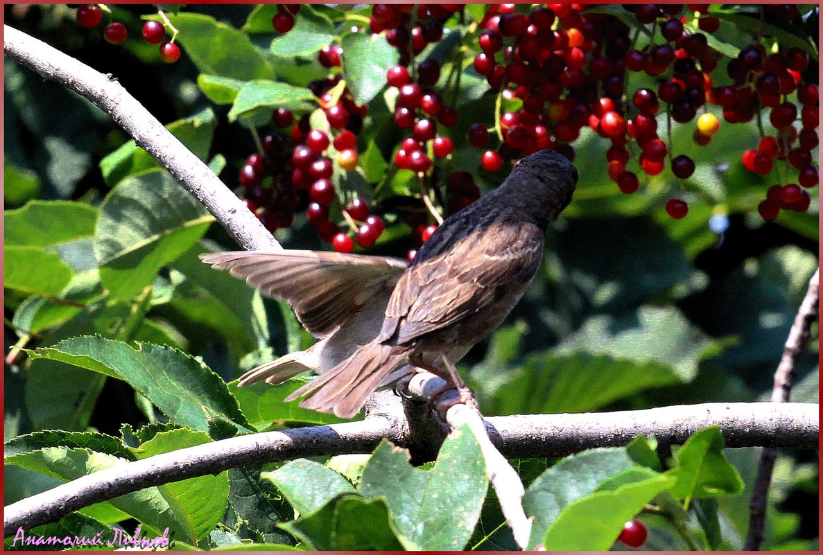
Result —
<instances>
[{"instance_id":1,"label":"outstretched brown wing pointing left, below the diagonal branch","mask_svg":"<svg viewBox=\"0 0 823 555\"><path fill-rule=\"evenodd\" d=\"M369 303L392 289L407 262L341 252L238 251L200 257L245 280L267 297L286 300L300 323L323 338Z\"/></svg>"}]
</instances>

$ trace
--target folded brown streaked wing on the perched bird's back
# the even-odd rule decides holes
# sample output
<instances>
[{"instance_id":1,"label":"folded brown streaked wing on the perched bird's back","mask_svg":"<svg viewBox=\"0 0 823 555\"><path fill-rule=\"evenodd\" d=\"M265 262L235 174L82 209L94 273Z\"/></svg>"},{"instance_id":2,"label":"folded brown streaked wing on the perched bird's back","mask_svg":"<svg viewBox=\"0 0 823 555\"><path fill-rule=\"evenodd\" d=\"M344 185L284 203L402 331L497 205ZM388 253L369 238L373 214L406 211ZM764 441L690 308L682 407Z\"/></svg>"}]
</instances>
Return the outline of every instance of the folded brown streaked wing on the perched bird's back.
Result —
<instances>
[{"instance_id":1,"label":"folded brown streaked wing on the perched bird's back","mask_svg":"<svg viewBox=\"0 0 823 555\"><path fill-rule=\"evenodd\" d=\"M534 224L492 224L417 261L394 288L380 340L405 344L486 308L506 288L532 279L543 240Z\"/></svg>"}]
</instances>

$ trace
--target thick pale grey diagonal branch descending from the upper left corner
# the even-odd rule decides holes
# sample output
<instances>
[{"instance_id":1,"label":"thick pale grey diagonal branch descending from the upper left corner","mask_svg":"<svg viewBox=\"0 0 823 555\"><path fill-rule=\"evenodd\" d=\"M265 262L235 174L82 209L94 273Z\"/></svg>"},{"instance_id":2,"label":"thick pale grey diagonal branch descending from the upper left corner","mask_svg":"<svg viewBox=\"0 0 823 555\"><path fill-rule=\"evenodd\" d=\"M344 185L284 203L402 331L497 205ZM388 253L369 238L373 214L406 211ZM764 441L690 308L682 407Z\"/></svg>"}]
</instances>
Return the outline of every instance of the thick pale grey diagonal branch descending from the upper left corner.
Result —
<instances>
[{"instance_id":1,"label":"thick pale grey diagonal branch descending from the upper left corner","mask_svg":"<svg viewBox=\"0 0 823 555\"><path fill-rule=\"evenodd\" d=\"M169 170L188 192L220 222L232 238L246 249L279 248L272 234L246 208L208 166L193 155L177 137L143 108L114 76L105 76L85 63L53 49L8 25L3 25L6 55L91 100L108 113L160 165Z\"/></svg>"}]
</instances>

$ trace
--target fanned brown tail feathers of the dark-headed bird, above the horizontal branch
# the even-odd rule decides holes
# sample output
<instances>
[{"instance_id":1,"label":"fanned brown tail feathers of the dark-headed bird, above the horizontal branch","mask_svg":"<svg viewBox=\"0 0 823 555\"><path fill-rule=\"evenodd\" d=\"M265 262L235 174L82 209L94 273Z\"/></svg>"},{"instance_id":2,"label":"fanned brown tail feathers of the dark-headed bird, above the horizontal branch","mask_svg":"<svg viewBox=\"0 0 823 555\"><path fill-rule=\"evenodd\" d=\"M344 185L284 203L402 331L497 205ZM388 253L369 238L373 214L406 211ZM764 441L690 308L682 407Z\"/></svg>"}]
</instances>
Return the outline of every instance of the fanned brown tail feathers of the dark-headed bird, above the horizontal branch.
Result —
<instances>
[{"instance_id":1,"label":"fanned brown tail feathers of the dark-headed bird, above the horizontal branch","mask_svg":"<svg viewBox=\"0 0 823 555\"><path fill-rule=\"evenodd\" d=\"M366 398L384 378L411 352L410 347L383 345L374 340L314 381L300 387L286 400L308 395L300 403L301 407L350 419L362 408Z\"/></svg>"}]
</instances>

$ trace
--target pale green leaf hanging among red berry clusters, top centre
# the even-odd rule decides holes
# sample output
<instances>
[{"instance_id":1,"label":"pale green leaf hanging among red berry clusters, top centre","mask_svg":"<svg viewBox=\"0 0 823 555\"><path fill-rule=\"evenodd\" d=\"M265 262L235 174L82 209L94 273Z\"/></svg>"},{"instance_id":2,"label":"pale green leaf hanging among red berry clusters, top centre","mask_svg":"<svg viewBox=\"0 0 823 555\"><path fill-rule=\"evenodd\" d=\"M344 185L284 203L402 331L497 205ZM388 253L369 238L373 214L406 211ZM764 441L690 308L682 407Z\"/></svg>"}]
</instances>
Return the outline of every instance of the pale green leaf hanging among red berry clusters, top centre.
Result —
<instances>
[{"instance_id":1,"label":"pale green leaf hanging among red berry clusters, top centre","mask_svg":"<svg viewBox=\"0 0 823 555\"><path fill-rule=\"evenodd\" d=\"M384 35L351 33L342 40L343 73L358 105L373 99L386 86L388 68L398 63L399 54Z\"/></svg>"}]
</instances>

